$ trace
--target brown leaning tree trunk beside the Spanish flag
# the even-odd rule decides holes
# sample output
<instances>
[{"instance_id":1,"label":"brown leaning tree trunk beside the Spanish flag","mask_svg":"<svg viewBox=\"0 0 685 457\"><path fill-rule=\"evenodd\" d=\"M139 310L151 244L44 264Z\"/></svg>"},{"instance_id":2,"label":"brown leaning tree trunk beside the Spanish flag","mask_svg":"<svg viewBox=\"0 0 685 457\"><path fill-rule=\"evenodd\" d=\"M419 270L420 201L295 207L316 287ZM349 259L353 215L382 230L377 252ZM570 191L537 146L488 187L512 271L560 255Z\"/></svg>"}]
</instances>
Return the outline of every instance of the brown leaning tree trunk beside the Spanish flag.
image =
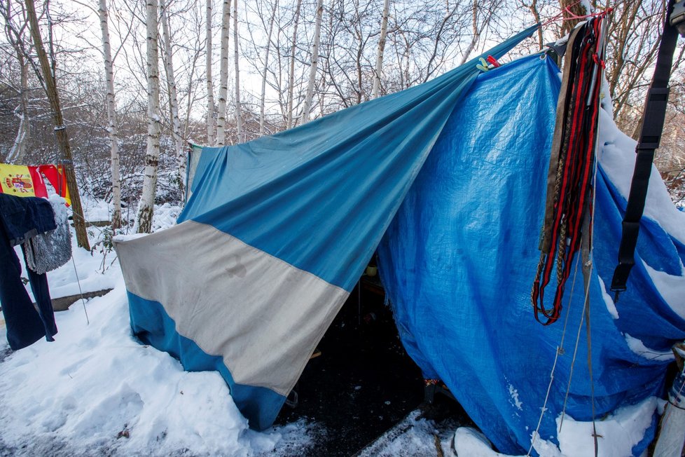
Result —
<instances>
[{"instance_id":1,"label":"brown leaning tree trunk beside the Spanish flag","mask_svg":"<svg viewBox=\"0 0 685 457\"><path fill-rule=\"evenodd\" d=\"M62 107L60 106L60 95L57 93L57 81L55 75L48 62L48 55L43 47L43 39L41 38L41 30L38 25L38 18L36 17L36 6L34 0L25 0L27 18L31 27L31 36L36 48L36 55L41 64L41 72L43 73L43 81L45 82L46 93L50 101L50 109L53 111L53 119L55 121L55 136L57 137L57 145L60 146L62 157L64 158L63 169L64 176L67 178L67 189L69 189L69 198L71 198L71 210L74 212L74 228L76 228L76 243L79 247L84 247L90 250L90 243L88 243L88 232L85 231L85 218L83 217L83 207L81 207L81 196L78 195L78 186L76 185L76 175L74 174L74 160L71 156L71 146L69 146L69 136L67 135L67 127L64 125L64 118L62 118ZM53 67L55 61L53 60Z\"/></svg>"}]
</instances>

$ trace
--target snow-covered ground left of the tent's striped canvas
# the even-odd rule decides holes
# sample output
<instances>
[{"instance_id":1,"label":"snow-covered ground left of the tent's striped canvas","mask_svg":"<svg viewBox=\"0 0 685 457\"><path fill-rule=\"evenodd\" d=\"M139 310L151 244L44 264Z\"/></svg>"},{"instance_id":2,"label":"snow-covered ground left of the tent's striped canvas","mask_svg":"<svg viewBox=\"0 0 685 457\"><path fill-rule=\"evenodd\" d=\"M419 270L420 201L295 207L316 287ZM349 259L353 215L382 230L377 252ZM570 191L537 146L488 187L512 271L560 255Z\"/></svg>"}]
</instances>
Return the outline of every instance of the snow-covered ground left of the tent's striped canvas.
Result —
<instances>
[{"instance_id":1,"label":"snow-covered ground left of the tent's striped canvas","mask_svg":"<svg viewBox=\"0 0 685 457\"><path fill-rule=\"evenodd\" d=\"M179 212L157 209L158 228ZM78 294L79 282L83 292L113 291L56 313L53 343L11 352L0 322L0 456L283 456L312 446L316 425L253 432L218 373L189 373L141 345L116 252L74 244L74 263L48 280L53 298Z\"/></svg>"}]
</instances>

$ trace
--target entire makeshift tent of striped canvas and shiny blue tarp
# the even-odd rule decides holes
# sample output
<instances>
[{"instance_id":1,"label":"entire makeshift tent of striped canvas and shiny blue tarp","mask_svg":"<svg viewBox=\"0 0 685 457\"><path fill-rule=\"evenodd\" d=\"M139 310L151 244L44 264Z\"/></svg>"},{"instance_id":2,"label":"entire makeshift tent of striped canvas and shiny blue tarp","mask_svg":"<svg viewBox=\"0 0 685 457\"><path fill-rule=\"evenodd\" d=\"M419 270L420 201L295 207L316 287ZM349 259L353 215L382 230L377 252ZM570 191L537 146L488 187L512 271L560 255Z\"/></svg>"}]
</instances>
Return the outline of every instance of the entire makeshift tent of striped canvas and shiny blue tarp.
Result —
<instances>
[{"instance_id":1,"label":"entire makeshift tent of striped canvas and shiny blue tarp","mask_svg":"<svg viewBox=\"0 0 685 457\"><path fill-rule=\"evenodd\" d=\"M219 371L250 425L266 428L385 233L380 271L408 352L500 449L527 447L560 332L533 325L530 305L558 69L539 56L485 74L476 63L300 128L205 149L179 224L116 243L134 332L188 370ZM619 214L616 196L600 175L598 211ZM598 224L615 239L620 217ZM645 224L652 265L677 275L682 244ZM632 353L620 331L659 350L685 336L649 276L631 280L642 304L620 308L620 320L639 313L639 324L593 340L599 411L663 382L665 362ZM604 307L593 325L615 326L597 275L593 287L593 311ZM615 366L624 378L602 373ZM529 377L539 391L517 390ZM569 414L586 419L587 386L573 387Z\"/></svg>"}]
</instances>

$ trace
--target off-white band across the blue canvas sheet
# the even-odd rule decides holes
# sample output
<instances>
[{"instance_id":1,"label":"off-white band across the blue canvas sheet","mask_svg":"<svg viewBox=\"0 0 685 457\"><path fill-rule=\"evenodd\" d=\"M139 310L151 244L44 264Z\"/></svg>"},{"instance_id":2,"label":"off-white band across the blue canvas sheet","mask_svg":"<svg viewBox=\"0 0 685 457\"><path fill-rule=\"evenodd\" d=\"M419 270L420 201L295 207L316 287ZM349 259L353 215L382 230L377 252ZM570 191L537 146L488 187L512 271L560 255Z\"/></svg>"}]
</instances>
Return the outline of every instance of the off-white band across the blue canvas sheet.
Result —
<instances>
[{"instance_id":1,"label":"off-white band across the blue canvas sheet","mask_svg":"<svg viewBox=\"0 0 685 457\"><path fill-rule=\"evenodd\" d=\"M223 357L236 383L288 395L349 292L213 226L185 221L116 242L129 292Z\"/></svg>"}]
</instances>

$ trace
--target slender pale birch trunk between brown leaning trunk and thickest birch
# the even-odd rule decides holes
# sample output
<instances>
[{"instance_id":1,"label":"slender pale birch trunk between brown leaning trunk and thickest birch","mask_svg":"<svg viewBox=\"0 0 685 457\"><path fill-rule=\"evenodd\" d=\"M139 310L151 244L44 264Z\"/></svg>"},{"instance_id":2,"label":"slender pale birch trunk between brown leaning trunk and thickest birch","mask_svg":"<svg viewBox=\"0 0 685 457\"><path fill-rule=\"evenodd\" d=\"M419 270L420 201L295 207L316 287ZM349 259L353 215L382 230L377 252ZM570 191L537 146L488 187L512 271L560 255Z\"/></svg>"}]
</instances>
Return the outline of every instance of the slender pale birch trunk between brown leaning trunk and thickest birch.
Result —
<instances>
[{"instance_id":1,"label":"slender pale birch trunk between brown leaning trunk and thickest birch","mask_svg":"<svg viewBox=\"0 0 685 457\"><path fill-rule=\"evenodd\" d=\"M109 24L107 0L100 0L100 29L102 30L102 54L104 56L104 76L107 83L107 120L109 121L109 148L112 170L112 228L121 226L121 181L119 176L119 144L116 128L116 104L114 103L114 71L112 69L112 50L109 43Z\"/></svg>"}]
</instances>

